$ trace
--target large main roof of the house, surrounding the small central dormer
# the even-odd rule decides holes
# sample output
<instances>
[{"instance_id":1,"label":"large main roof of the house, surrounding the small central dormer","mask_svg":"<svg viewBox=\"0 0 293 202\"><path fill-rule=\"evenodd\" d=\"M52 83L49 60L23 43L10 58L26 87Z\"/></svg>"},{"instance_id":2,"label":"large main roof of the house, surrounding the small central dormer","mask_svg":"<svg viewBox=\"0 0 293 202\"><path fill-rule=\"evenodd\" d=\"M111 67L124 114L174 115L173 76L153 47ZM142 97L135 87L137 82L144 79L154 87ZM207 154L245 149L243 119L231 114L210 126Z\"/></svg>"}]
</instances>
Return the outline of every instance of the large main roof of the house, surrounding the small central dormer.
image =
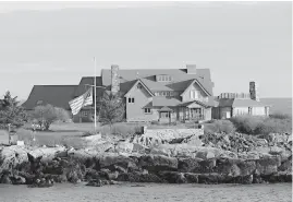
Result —
<instances>
[{"instance_id":1,"label":"large main roof of the house, surrounding the small central dormer","mask_svg":"<svg viewBox=\"0 0 293 202\"><path fill-rule=\"evenodd\" d=\"M195 80L212 95L213 83L210 80L209 69L197 69L196 74L187 74L186 69L120 69L120 83L137 80L138 78L151 91L185 91L192 80ZM156 82L156 75L171 75L171 82ZM111 70L101 71L102 85L111 85Z\"/></svg>"}]
</instances>

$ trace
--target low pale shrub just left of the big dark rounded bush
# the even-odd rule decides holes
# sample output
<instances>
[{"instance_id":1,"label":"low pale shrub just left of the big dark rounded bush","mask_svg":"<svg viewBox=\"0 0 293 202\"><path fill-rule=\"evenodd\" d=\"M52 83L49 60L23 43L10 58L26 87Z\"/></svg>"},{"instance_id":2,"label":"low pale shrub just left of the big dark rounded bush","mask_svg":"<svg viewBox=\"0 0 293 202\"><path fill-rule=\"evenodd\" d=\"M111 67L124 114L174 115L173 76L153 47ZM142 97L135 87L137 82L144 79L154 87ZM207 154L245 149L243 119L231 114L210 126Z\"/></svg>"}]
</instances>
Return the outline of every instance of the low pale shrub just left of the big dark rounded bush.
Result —
<instances>
[{"instance_id":1,"label":"low pale shrub just left of the big dark rounded bush","mask_svg":"<svg viewBox=\"0 0 293 202\"><path fill-rule=\"evenodd\" d=\"M235 131L235 127L230 120L215 120L209 123L204 124L205 132L208 133L216 133L216 132L224 132L224 133L231 133Z\"/></svg>"}]
</instances>

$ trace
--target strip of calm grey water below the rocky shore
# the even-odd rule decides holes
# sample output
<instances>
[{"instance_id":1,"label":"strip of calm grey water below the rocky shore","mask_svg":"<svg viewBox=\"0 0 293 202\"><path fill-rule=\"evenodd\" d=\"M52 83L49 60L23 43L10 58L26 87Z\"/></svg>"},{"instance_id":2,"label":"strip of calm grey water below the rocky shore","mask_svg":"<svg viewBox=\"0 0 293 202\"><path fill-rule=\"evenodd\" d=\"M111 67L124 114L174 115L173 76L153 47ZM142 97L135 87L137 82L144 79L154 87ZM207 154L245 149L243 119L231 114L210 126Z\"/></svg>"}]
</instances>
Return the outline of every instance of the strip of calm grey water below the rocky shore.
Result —
<instances>
[{"instance_id":1,"label":"strip of calm grey water below the rocky shore","mask_svg":"<svg viewBox=\"0 0 293 202\"><path fill-rule=\"evenodd\" d=\"M137 186L136 186L137 185ZM141 186L141 187L139 187ZM143 186L143 187L142 187ZM0 185L1 202L290 202L292 185L125 183L100 188L56 185L51 188Z\"/></svg>"}]
</instances>

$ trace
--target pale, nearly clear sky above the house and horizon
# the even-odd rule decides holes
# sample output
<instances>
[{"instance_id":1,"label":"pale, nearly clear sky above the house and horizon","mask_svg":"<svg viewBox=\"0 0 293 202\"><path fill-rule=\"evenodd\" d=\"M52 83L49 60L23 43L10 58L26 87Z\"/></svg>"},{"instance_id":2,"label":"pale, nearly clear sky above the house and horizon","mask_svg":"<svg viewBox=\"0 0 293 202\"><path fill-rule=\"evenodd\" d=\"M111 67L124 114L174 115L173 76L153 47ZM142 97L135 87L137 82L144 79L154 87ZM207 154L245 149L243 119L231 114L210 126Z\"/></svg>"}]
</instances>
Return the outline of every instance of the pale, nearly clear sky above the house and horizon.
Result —
<instances>
[{"instance_id":1,"label":"pale, nearly clear sky above the house and horizon","mask_svg":"<svg viewBox=\"0 0 293 202\"><path fill-rule=\"evenodd\" d=\"M292 97L291 2L0 2L0 97L101 69L208 68L213 94Z\"/></svg>"}]
</instances>

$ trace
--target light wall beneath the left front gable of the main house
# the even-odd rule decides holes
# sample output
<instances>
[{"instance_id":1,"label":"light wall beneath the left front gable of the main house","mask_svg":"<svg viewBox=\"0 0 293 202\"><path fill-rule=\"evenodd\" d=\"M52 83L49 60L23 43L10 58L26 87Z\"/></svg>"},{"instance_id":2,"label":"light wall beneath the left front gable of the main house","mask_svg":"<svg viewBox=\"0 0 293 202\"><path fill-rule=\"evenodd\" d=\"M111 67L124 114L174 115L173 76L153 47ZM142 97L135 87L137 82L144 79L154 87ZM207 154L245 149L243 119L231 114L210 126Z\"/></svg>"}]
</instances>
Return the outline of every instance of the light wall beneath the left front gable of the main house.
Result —
<instances>
[{"instance_id":1,"label":"light wall beneath the left front gable of the main house","mask_svg":"<svg viewBox=\"0 0 293 202\"><path fill-rule=\"evenodd\" d=\"M134 103L129 103L129 98L134 98ZM150 114L145 114L145 107L151 102L151 96L144 88L134 86L126 97L126 120L127 121L151 121L158 120L158 112L156 109L150 109Z\"/></svg>"}]
</instances>

